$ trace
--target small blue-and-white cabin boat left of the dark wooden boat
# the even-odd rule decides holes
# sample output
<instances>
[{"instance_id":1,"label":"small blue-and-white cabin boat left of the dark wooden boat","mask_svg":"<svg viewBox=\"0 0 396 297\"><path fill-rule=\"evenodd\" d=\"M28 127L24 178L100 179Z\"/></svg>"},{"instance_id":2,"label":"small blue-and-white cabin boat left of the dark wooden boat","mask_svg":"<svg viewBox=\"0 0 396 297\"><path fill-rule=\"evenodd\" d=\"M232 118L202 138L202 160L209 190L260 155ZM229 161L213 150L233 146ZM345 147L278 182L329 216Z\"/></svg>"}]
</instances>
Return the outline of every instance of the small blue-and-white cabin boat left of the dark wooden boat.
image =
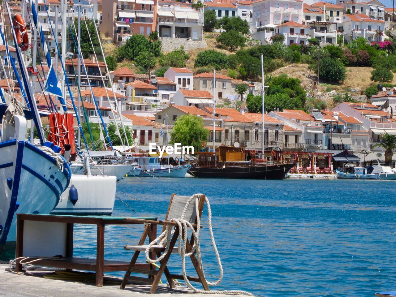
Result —
<instances>
[{"instance_id":1,"label":"small blue-and-white cabin boat left of the dark wooden boat","mask_svg":"<svg viewBox=\"0 0 396 297\"><path fill-rule=\"evenodd\" d=\"M141 177L185 177L190 164L171 165L161 164L159 157L139 157L137 162L141 169L139 176Z\"/></svg>"}]
</instances>

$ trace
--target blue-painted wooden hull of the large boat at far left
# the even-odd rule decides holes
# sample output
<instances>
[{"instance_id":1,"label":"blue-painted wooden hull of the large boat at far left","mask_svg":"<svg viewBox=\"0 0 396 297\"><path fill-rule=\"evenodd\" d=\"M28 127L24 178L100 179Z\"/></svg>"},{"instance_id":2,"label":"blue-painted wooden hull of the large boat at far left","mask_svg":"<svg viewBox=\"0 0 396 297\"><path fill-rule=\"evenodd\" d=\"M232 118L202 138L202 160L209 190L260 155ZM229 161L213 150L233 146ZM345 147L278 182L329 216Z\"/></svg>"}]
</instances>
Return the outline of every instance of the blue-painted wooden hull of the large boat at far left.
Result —
<instances>
[{"instance_id":1,"label":"blue-painted wooden hull of the large boat at far left","mask_svg":"<svg viewBox=\"0 0 396 297\"><path fill-rule=\"evenodd\" d=\"M0 253L4 246L14 246L16 213L49 214L61 193L68 187L71 171L68 164L63 172L55 160L25 141L0 143Z\"/></svg>"}]
</instances>

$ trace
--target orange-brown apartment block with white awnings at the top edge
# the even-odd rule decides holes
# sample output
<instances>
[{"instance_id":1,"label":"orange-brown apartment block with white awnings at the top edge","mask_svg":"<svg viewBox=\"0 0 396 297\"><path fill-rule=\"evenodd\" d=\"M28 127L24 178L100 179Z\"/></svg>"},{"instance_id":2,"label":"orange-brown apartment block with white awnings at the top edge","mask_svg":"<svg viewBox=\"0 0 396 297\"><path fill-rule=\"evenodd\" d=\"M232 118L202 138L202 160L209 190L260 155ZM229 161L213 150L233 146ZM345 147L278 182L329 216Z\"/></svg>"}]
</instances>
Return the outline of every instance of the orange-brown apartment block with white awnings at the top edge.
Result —
<instances>
[{"instance_id":1,"label":"orange-brown apartment block with white awnings at the top edge","mask_svg":"<svg viewBox=\"0 0 396 297\"><path fill-rule=\"evenodd\" d=\"M149 36L156 30L157 0L106 0L102 4L101 34L119 46L132 34Z\"/></svg>"}]
</instances>

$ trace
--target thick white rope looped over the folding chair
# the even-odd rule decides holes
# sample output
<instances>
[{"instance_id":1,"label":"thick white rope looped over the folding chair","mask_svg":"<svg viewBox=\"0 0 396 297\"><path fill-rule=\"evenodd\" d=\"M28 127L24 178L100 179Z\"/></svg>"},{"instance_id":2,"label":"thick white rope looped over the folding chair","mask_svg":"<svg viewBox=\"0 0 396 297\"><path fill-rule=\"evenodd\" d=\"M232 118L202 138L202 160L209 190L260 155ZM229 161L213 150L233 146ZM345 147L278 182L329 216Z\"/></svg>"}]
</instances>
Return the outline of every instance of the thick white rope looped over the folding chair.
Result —
<instances>
[{"instance_id":1,"label":"thick white rope looped over the folding chair","mask_svg":"<svg viewBox=\"0 0 396 297\"><path fill-rule=\"evenodd\" d=\"M198 215L199 213L199 198L200 196L202 196L202 194L194 194L190 197L190 199L188 199L184 209L183 209L183 213L181 215L180 219L171 219L171 222L174 222L177 224L177 227L179 228L179 235L178 235L178 244L177 244L177 251L179 253L179 255L181 256L181 265L182 265L182 269L183 269L183 278L187 284L187 286L192 289L194 292L196 293L202 293L202 294L240 294L240 295L248 295L248 296L253 296L251 293L246 292L246 291L240 291L240 290L226 290L226 291L205 291L205 290L200 290L197 289L196 287L192 286L192 284L189 282L188 278L187 278L187 273L186 273L186 263L185 263L185 258L186 257L190 257L193 253L196 253L197 255L197 261L198 264L202 270L202 274L204 275L204 279L206 280L205 277L205 273L204 273L204 267L202 264L202 257L201 257L201 248L200 248L200 239L199 239L199 232L200 232L200 217ZM194 227L191 225L190 222L188 222L187 220L184 219L186 211L188 209L189 204L192 202L192 200L194 200L195 202L195 211L197 214L197 230L194 230ZM213 236L213 230L212 230L212 212L211 212L211 208L210 208L210 204L209 204L209 200L208 198L205 198L205 203L206 206L208 208L208 229L209 229L209 234L210 234L210 240L213 246L213 250L215 252L216 255L216 259L217 259L217 264L219 266L219 272L220 272L220 277L217 281L215 282L208 282L209 286L216 286L218 284L220 284L221 280L223 279L223 266L221 265L221 260L220 260L220 255L219 252L217 251L217 247L216 247L216 243L215 243L215 238ZM150 244L148 245L148 247L145 250L145 254L146 254L146 261L148 263L151 264L156 264L158 262L160 262L162 259L164 259L164 257L166 256L166 254L169 251L169 243L171 240L171 235L173 234L174 231L172 231L173 225L167 225L166 229L164 232L162 232L162 234L160 236L158 236L155 240L153 240L152 242L150 242ZM189 228L192 232L192 236L194 238L194 244L191 248L191 251L189 253L186 253L186 242L188 241L187 238L187 228ZM182 232L183 230L183 232ZM158 241L160 242L159 246L166 246L166 249L164 251L164 253L157 259L150 259L150 248L154 245L158 244ZM181 245L181 242L183 241L183 246Z\"/></svg>"}]
</instances>

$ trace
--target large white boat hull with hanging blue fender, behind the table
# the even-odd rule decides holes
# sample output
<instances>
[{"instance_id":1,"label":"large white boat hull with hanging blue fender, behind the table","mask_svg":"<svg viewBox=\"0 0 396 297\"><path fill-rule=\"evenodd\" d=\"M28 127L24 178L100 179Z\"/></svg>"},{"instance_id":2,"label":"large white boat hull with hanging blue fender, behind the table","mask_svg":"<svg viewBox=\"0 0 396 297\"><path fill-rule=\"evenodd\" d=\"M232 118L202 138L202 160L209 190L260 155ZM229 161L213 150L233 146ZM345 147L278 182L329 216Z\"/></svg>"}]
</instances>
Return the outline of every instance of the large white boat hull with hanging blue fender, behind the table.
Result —
<instances>
[{"instance_id":1,"label":"large white boat hull with hanging blue fender, behind the table","mask_svg":"<svg viewBox=\"0 0 396 297\"><path fill-rule=\"evenodd\" d=\"M74 185L78 192L75 205L70 201L69 190ZM117 180L107 175L72 174L69 187L62 193L53 215L111 215L116 196Z\"/></svg>"}]
</instances>

